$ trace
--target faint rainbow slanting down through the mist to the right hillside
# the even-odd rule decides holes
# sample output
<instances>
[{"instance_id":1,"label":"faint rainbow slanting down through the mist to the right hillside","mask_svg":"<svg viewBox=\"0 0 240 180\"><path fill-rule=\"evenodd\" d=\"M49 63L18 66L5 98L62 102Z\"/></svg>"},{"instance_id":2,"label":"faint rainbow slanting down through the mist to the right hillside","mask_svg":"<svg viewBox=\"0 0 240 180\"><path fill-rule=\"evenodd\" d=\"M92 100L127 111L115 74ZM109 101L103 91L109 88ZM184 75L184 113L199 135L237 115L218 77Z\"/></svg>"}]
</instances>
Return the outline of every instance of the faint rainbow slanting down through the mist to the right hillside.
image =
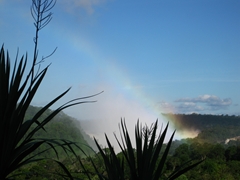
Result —
<instances>
[{"instance_id":1,"label":"faint rainbow slanting down through the mist to the right hillside","mask_svg":"<svg viewBox=\"0 0 240 180\"><path fill-rule=\"evenodd\" d=\"M104 66L105 73L109 77L109 82L118 89L119 92L124 93L126 98L135 99L147 110L152 116L161 119L163 125L169 122L170 131L177 130L175 139L183 139L187 137L195 137L198 132L195 130L186 129L181 119L177 119L176 116L163 116L164 112L156 103L146 95L141 87L135 87L131 82L131 79L124 73L124 68L116 63L114 59L104 59L101 52L96 46L91 44L83 37L75 37L74 34L68 34L64 39L69 45L76 51L84 53L95 64L101 64ZM94 52L94 53L93 53ZM155 119L152 121L154 122Z\"/></svg>"}]
</instances>

